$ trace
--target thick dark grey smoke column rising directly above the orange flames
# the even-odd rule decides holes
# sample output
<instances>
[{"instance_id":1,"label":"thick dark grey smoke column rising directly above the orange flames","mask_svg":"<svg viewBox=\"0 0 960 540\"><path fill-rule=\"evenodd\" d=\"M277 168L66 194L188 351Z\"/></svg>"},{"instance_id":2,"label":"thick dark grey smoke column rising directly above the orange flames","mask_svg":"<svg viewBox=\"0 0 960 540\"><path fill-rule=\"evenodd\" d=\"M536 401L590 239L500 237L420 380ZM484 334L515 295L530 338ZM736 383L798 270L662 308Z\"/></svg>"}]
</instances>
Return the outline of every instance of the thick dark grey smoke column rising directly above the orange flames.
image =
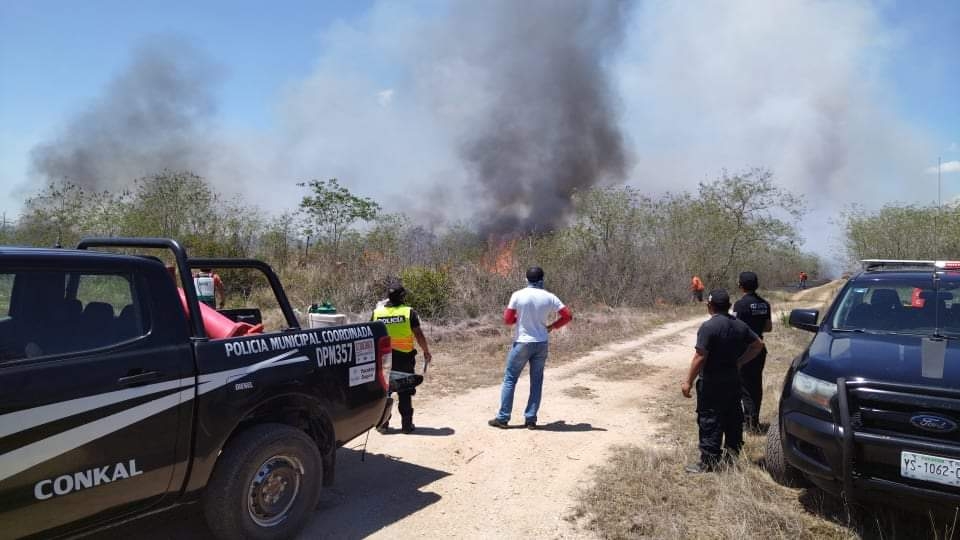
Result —
<instances>
[{"instance_id":1,"label":"thick dark grey smoke column rising directly above the orange flames","mask_svg":"<svg viewBox=\"0 0 960 540\"><path fill-rule=\"evenodd\" d=\"M482 119L463 126L461 156L495 234L560 224L576 190L625 176L626 154L605 62L626 14L615 2L471 2L458 60L479 70ZM475 28L469 28L471 25ZM469 43L469 41L473 43Z\"/></svg>"}]
</instances>

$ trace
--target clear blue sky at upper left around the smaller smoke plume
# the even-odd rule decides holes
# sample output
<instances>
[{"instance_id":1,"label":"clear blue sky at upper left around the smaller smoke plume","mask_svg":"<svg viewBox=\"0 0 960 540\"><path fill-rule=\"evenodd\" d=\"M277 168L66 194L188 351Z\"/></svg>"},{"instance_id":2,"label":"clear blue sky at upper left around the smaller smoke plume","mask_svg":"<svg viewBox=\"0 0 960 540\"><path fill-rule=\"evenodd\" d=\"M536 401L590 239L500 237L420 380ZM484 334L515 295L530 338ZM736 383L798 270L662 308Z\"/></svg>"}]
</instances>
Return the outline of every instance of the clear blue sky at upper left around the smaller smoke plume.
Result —
<instances>
[{"instance_id":1,"label":"clear blue sky at upper left around the smaller smoke plume","mask_svg":"<svg viewBox=\"0 0 960 540\"><path fill-rule=\"evenodd\" d=\"M305 77L321 31L362 13L350 1L0 4L3 127L52 126L97 95L147 38L184 39L224 70L221 116L263 125L278 89Z\"/></svg>"}]
</instances>

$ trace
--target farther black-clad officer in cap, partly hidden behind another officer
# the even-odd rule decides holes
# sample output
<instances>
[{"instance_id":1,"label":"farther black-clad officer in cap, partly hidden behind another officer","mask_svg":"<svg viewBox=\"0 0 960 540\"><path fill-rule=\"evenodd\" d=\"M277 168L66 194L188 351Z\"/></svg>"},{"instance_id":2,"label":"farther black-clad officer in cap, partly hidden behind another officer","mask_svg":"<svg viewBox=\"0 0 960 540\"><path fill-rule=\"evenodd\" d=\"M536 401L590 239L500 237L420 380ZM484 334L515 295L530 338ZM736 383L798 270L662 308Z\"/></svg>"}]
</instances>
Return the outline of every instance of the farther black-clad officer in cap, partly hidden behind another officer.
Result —
<instances>
[{"instance_id":1,"label":"farther black-clad officer in cap, partly hidden behind another officer","mask_svg":"<svg viewBox=\"0 0 960 540\"><path fill-rule=\"evenodd\" d=\"M773 322L770 319L770 303L757 294L757 274L741 272L738 284L744 294L733 305L733 315L747 323L747 326L763 339L764 332L773 330ZM760 401L763 399L763 365L766 361L767 348L764 346L760 354L740 370L744 424L751 433L760 433Z\"/></svg>"}]
</instances>

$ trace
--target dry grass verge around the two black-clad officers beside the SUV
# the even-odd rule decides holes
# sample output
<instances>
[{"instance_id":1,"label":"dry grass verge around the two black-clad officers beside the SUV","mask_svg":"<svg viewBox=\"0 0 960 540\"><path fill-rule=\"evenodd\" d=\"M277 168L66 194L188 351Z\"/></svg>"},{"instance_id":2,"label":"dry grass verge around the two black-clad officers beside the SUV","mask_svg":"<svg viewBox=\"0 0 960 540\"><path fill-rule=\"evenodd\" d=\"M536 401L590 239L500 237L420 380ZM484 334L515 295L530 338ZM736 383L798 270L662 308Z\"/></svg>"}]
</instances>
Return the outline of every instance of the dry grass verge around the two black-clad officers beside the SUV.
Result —
<instances>
[{"instance_id":1,"label":"dry grass verge around the two black-clad officers beside the SUV","mask_svg":"<svg viewBox=\"0 0 960 540\"><path fill-rule=\"evenodd\" d=\"M776 414L793 357L812 334L776 324L767 336L761 417ZM678 375L679 377L679 375ZM698 459L693 403L673 386L648 412L661 424L660 448L624 446L596 471L571 519L602 538L953 538L950 518L902 515L884 509L851 521L846 509L817 489L776 484L762 468L764 436L747 435L735 467L689 475ZM854 514L856 515L856 514Z\"/></svg>"}]
</instances>

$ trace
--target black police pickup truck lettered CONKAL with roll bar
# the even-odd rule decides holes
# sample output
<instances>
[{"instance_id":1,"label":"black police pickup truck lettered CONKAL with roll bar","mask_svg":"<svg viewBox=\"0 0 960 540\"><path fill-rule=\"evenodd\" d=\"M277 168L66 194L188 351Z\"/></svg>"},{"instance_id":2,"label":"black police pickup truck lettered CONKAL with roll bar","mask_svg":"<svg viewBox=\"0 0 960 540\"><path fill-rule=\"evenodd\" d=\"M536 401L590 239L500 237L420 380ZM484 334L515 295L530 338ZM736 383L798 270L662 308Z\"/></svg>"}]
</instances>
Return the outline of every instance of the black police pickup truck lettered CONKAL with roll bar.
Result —
<instances>
[{"instance_id":1,"label":"black police pickup truck lettered CONKAL with roll bar","mask_svg":"<svg viewBox=\"0 0 960 540\"><path fill-rule=\"evenodd\" d=\"M96 247L169 250L179 282L156 257ZM199 268L262 272L285 329L210 335ZM0 538L191 502L218 538L293 536L337 447L388 419L389 354L382 323L300 328L260 261L191 259L168 239L0 247Z\"/></svg>"}]
</instances>

